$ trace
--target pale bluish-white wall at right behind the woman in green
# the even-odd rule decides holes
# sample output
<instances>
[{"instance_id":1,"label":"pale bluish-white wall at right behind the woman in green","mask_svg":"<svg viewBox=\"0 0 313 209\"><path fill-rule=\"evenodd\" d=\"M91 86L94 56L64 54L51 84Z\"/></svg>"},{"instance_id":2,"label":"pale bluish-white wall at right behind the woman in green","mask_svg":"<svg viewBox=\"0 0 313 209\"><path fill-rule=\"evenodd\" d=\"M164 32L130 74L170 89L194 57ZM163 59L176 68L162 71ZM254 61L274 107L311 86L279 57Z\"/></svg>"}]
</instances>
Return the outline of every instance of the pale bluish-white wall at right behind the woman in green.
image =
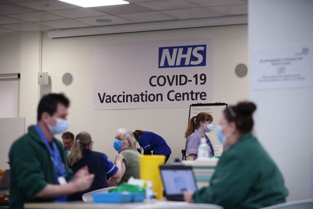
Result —
<instances>
[{"instance_id":1,"label":"pale bluish-white wall at right behind the woman in green","mask_svg":"<svg viewBox=\"0 0 313 209\"><path fill-rule=\"evenodd\" d=\"M248 5L249 57L253 49L288 46L310 46L312 55L312 0L250 0ZM256 134L283 172L288 200L313 197L313 88L253 91L249 86L258 106Z\"/></svg>"}]
</instances>

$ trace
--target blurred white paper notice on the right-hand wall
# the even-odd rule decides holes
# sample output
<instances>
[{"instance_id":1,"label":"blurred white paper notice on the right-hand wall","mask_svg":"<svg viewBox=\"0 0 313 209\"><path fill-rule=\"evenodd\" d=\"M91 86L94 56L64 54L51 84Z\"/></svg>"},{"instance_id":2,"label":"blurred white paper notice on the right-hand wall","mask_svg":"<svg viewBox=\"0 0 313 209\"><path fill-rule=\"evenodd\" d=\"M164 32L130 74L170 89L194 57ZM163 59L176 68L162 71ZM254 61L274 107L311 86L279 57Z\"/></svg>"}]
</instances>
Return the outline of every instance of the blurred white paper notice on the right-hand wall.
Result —
<instances>
[{"instance_id":1,"label":"blurred white paper notice on the right-hand wall","mask_svg":"<svg viewBox=\"0 0 313 209\"><path fill-rule=\"evenodd\" d=\"M274 89L312 85L309 47L252 51L252 88Z\"/></svg>"}]
</instances>

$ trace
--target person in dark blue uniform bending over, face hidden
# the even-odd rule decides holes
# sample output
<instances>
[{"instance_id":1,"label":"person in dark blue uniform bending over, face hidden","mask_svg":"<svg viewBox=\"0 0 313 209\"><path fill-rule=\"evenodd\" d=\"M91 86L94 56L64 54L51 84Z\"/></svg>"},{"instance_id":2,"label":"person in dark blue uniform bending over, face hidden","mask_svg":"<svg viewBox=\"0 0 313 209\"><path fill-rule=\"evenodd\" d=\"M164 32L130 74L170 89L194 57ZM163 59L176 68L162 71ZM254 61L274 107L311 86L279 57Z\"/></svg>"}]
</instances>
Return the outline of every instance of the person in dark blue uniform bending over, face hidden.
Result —
<instances>
[{"instance_id":1,"label":"person in dark blue uniform bending over, face hidden","mask_svg":"<svg viewBox=\"0 0 313 209\"><path fill-rule=\"evenodd\" d=\"M161 154L165 155L165 163L171 155L171 148L166 144L165 140L153 132L136 130L134 136L143 148L143 154Z\"/></svg>"}]
</instances>

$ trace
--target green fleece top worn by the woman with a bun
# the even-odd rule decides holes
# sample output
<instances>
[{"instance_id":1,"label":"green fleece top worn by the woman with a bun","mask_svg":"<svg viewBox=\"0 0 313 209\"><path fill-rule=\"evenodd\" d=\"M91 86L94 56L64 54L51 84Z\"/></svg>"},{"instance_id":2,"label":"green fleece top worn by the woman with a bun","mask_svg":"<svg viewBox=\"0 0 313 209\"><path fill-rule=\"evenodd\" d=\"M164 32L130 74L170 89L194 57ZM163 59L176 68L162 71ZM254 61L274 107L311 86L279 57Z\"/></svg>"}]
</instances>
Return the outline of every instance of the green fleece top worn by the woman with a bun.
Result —
<instances>
[{"instance_id":1,"label":"green fleece top worn by the woman with a bun","mask_svg":"<svg viewBox=\"0 0 313 209\"><path fill-rule=\"evenodd\" d=\"M220 158L210 187L196 191L192 200L225 209L259 209L283 203L287 195L273 160L251 133L245 133Z\"/></svg>"}]
</instances>

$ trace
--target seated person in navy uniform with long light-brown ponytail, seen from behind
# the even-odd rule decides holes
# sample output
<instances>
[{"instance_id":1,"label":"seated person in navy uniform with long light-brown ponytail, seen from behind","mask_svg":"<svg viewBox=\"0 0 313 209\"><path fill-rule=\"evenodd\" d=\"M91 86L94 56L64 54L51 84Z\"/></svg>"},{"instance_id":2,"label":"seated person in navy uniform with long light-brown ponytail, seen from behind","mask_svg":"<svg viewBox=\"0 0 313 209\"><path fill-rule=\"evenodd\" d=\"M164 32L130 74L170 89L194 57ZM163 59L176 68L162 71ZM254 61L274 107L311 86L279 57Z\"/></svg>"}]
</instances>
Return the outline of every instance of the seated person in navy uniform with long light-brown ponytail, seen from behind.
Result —
<instances>
[{"instance_id":1,"label":"seated person in navy uniform with long light-brown ponytail, seen from behind","mask_svg":"<svg viewBox=\"0 0 313 209\"><path fill-rule=\"evenodd\" d=\"M94 181L88 190L77 192L68 197L69 200L82 200L86 192L107 188L107 179L120 179L123 156L116 154L115 165L108 160L108 156L101 152L92 151L93 141L87 132L78 133L71 151L67 155L68 165L75 172L88 166L89 172L94 174Z\"/></svg>"}]
</instances>

